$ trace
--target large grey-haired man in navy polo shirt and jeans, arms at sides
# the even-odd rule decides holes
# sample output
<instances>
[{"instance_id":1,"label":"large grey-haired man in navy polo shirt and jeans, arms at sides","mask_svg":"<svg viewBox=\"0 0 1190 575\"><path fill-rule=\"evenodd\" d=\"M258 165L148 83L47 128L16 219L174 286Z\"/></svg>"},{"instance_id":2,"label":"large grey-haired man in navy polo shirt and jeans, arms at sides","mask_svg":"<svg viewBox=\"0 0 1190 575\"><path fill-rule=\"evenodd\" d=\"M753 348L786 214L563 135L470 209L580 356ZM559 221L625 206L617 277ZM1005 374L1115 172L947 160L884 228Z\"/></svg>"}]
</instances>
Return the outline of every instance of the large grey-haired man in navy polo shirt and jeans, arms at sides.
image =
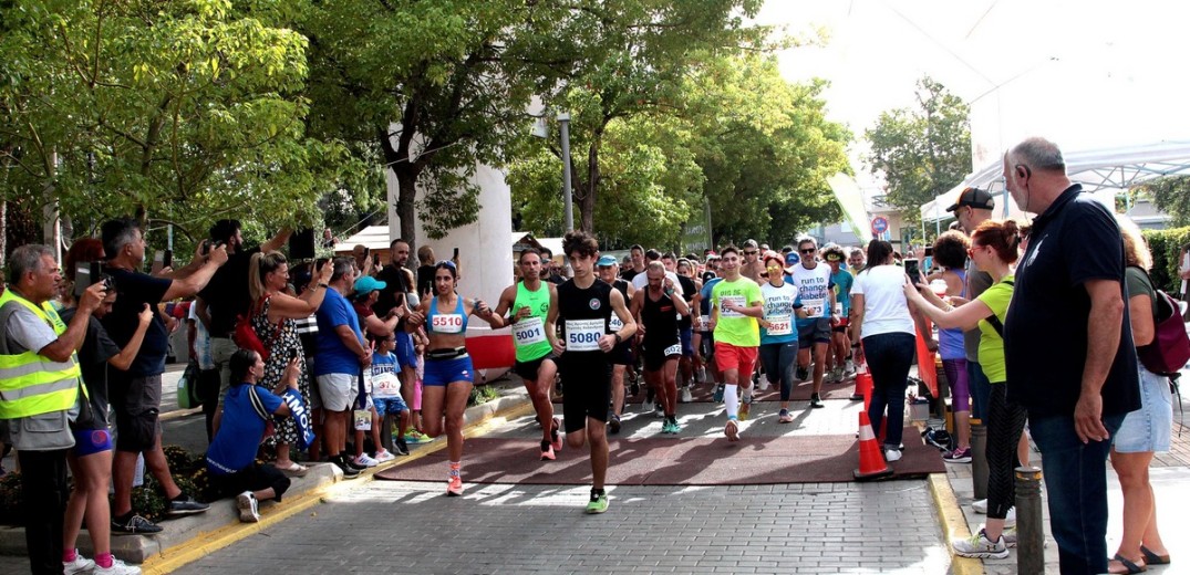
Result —
<instances>
[{"instance_id":1,"label":"large grey-haired man in navy polo shirt and jeans, arms at sides","mask_svg":"<svg viewBox=\"0 0 1190 575\"><path fill-rule=\"evenodd\" d=\"M1008 397L1028 410L1041 450L1061 573L1107 573L1104 462L1140 407L1123 240L1111 211L1070 182L1053 143L1009 150L1004 181L1038 214L1004 320Z\"/></svg>"}]
</instances>

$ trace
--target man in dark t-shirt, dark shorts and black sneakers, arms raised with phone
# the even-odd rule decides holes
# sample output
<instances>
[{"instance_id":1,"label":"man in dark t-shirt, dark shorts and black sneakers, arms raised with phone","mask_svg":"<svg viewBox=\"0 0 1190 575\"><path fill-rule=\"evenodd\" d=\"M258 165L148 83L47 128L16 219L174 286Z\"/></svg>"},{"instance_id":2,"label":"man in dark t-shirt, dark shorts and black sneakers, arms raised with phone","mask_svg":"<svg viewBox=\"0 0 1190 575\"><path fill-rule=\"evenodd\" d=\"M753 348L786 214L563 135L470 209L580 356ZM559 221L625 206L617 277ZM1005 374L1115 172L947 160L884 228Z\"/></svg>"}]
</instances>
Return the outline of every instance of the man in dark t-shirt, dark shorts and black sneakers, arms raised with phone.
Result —
<instances>
[{"instance_id":1,"label":"man in dark t-shirt, dark shorts and black sneakers, arms raised with phone","mask_svg":"<svg viewBox=\"0 0 1190 575\"><path fill-rule=\"evenodd\" d=\"M201 252L186 267L174 272L171 278L158 278L137 270L144 264L146 244L136 220L112 220L102 227L104 253L108 261L105 271L112 276L120 297L112 305L112 312L104 317L104 327L117 346L127 346L139 321L137 316L145 304L156 307L161 302L194 296L207 285L215 270L227 261L225 246ZM161 374L165 371L165 348L169 334L161 314L154 316L145 334L140 352L127 371L108 373L112 407L115 411L115 461L112 479L115 488L112 508L112 530L123 533L152 533L161 527L137 516L132 508L132 476L137 457L144 454L145 467L161 485L170 516L201 513L209 505L195 501L174 484L169 462L161 448Z\"/></svg>"}]
</instances>

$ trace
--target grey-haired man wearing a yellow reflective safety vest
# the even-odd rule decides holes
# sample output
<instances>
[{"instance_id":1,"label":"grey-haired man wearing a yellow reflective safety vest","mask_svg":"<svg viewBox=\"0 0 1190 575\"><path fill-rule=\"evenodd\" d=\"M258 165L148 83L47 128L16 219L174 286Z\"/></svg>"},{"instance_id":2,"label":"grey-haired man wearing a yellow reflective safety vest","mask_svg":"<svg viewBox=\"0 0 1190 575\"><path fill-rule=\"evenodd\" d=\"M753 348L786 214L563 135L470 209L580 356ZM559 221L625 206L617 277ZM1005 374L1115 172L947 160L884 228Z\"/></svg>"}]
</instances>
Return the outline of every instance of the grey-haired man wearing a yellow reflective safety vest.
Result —
<instances>
[{"instance_id":1,"label":"grey-haired man wearing a yellow reflective safety vest","mask_svg":"<svg viewBox=\"0 0 1190 575\"><path fill-rule=\"evenodd\" d=\"M75 444L69 423L87 411L75 352L106 289L88 288L67 326L49 303L62 283L49 247L18 247L10 271L0 295L0 438L17 448L31 570L62 573L67 450Z\"/></svg>"}]
</instances>

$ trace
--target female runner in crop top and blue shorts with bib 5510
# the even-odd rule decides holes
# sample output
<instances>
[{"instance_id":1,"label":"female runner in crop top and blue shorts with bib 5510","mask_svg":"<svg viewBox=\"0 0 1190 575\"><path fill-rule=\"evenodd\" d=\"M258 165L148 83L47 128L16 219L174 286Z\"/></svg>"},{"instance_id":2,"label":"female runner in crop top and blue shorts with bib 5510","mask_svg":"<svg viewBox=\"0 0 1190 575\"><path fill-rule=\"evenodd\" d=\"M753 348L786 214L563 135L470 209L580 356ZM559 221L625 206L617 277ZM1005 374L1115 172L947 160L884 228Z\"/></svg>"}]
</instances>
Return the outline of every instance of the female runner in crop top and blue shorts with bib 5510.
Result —
<instances>
[{"instance_id":1,"label":"female runner in crop top and blue shorts with bib 5510","mask_svg":"<svg viewBox=\"0 0 1190 575\"><path fill-rule=\"evenodd\" d=\"M425 323L430 335L426 373L421 379L421 425L422 431L431 437L437 437L444 430L446 432L450 465L446 494L452 497L463 494L463 412L475 381L471 356L466 354L466 320L475 314L493 328L502 323L488 304L456 293L457 282L455 263L439 261L434 266L437 297L422 301L418 311L408 318L414 326Z\"/></svg>"}]
</instances>

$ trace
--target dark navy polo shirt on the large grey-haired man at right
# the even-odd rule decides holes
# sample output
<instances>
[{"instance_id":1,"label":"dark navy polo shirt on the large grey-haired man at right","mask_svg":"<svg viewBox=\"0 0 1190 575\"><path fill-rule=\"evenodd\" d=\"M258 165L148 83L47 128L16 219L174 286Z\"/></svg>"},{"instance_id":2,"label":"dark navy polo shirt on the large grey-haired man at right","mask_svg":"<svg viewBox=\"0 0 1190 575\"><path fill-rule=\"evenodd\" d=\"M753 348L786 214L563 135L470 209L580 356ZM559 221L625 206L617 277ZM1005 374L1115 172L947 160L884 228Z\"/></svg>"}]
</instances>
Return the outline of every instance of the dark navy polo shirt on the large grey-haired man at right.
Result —
<instances>
[{"instance_id":1,"label":"dark navy polo shirt on the large grey-haired man at right","mask_svg":"<svg viewBox=\"0 0 1190 575\"><path fill-rule=\"evenodd\" d=\"M1086 362L1091 310L1084 283L1108 279L1125 286L1123 240L1115 217L1081 185L1066 189L1033 221L1029 249L1016 268L1004 320L1008 394L1031 416L1071 416ZM1120 346L1101 392L1103 415L1140 409L1136 350L1128 307Z\"/></svg>"}]
</instances>

